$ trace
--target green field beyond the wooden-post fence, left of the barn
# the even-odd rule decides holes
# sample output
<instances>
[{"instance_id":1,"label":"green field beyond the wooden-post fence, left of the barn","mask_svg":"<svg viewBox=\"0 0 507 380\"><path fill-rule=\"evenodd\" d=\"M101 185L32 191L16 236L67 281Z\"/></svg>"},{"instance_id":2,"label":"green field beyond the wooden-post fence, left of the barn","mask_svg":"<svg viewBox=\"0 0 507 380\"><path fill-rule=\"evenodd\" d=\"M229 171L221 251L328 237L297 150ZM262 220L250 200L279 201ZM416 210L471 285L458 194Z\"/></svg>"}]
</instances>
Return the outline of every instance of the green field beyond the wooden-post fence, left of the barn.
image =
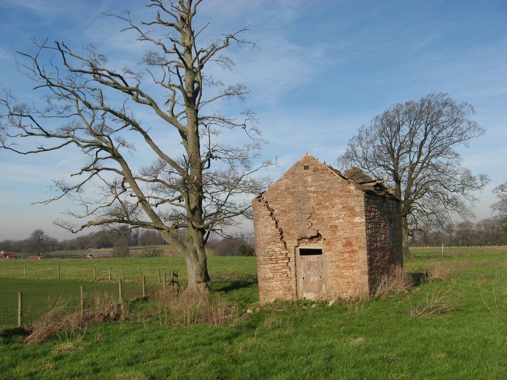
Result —
<instances>
[{"instance_id":1,"label":"green field beyond the wooden-post fence, left of the barn","mask_svg":"<svg viewBox=\"0 0 507 380\"><path fill-rule=\"evenodd\" d=\"M214 279L235 278L236 284L242 277L255 276L255 257L210 257L210 275ZM95 268L95 279L93 272ZM108 281L111 268L112 281ZM112 259L52 259L52 260L2 260L0 261L0 328L17 324L18 292L23 292L24 320L30 324L57 299L70 300L71 307L79 306L80 286L86 293L102 291L118 294L118 279L123 277L123 295L134 298L142 295L140 273L146 278L146 291L162 288L159 283L166 274L166 283L171 280L169 272L177 272L181 284L187 281L185 260L181 257L146 257ZM123 272L122 272L123 270ZM58 278L58 274L60 278ZM216 289L226 286L216 284Z\"/></svg>"}]
</instances>

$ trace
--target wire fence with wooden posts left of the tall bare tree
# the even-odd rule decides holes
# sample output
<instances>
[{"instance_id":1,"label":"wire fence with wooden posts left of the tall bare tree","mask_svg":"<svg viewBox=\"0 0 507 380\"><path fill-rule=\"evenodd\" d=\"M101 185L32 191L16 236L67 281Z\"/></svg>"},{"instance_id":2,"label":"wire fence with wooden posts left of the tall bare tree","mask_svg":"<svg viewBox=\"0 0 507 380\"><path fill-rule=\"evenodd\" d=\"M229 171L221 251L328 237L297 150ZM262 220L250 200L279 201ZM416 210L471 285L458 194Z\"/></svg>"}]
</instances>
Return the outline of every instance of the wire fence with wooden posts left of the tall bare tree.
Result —
<instances>
[{"instance_id":1,"label":"wire fence with wooden posts left of the tall bare tree","mask_svg":"<svg viewBox=\"0 0 507 380\"><path fill-rule=\"evenodd\" d=\"M27 278L26 269L23 270L23 278L0 280L0 329L30 326L56 305L64 306L69 314L77 312L98 293L106 293L122 303L169 286L179 286L177 272L160 269L149 281L140 269L137 277L131 275L127 279L123 268L97 271L94 267L89 281L61 279L59 267L45 268L44 272L37 273L39 278Z\"/></svg>"}]
</instances>

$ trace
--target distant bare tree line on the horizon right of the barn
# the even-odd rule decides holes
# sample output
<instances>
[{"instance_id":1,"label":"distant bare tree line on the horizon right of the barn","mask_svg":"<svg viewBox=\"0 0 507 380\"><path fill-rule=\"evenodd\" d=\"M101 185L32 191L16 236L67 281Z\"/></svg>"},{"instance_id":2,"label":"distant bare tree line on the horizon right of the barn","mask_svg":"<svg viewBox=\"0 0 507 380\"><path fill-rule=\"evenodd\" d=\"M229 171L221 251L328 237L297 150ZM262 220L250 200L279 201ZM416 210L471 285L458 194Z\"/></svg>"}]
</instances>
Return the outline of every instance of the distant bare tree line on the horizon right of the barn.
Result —
<instances>
[{"instance_id":1,"label":"distant bare tree line on the horizon right of the barn","mask_svg":"<svg viewBox=\"0 0 507 380\"><path fill-rule=\"evenodd\" d=\"M447 223L440 229L417 231L412 234L411 246L488 246L507 245L507 228L498 217L483 219L477 223L465 220L457 224Z\"/></svg>"}]
</instances>

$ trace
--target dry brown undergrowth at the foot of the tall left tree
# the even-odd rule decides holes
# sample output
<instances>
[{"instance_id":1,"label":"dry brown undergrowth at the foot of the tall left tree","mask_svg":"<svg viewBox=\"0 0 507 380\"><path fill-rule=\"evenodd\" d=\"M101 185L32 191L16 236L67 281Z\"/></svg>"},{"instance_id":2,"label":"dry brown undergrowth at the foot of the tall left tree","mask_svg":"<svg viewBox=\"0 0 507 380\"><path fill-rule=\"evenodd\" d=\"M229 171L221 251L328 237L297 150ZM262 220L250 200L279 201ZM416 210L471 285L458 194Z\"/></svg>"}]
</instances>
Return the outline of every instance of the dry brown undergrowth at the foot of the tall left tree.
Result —
<instances>
[{"instance_id":1,"label":"dry brown undergrowth at the foot of the tall left tree","mask_svg":"<svg viewBox=\"0 0 507 380\"><path fill-rule=\"evenodd\" d=\"M159 305L161 323L164 320L171 325L218 325L237 317L237 309L219 294L204 294L188 288L161 291Z\"/></svg>"}]
</instances>

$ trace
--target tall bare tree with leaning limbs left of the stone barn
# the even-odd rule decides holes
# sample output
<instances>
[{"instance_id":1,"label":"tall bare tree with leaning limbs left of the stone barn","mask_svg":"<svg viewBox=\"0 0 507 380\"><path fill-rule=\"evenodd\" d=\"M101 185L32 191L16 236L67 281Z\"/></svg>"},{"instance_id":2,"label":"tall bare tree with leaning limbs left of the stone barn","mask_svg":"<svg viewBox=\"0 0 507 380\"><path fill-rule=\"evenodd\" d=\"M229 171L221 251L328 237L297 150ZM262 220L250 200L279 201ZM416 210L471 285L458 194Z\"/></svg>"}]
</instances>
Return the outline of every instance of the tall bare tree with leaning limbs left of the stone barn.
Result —
<instances>
[{"instance_id":1,"label":"tall bare tree with leaning limbs left of the stone barn","mask_svg":"<svg viewBox=\"0 0 507 380\"><path fill-rule=\"evenodd\" d=\"M247 109L232 118L213 105L243 100L247 88L204 72L213 65L232 66L222 55L231 43L253 46L240 37L247 29L199 45L207 26L194 25L201 1L150 0L146 6L156 11L151 21L135 22L129 12L106 14L125 23L122 31L151 45L138 71L108 65L92 46L78 54L64 43L43 41L34 42L34 54L18 52L18 66L36 82L35 90L44 91L46 105L29 107L6 92L0 143L24 155L80 149L89 161L72 174L77 180L55 181L60 194L43 203L72 195L84 212L69 214L89 220L56 223L73 232L97 225L159 231L185 257L189 286L207 291L205 241L212 231L224 231L236 218L249 215L242 195L261 191L265 183L256 172L271 163L252 166L263 143L255 114ZM158 123L144 126L133 108L152 112ZM60 122L56 127L55 121ZM246 143L230 146L217 138L234 130L245 133ZM164 143L157 142L161 133L178 139L181 151L164 150ZM33 139L32 147L21 150L14 144L21 138ZM139 161L134 142L151 151L151 165L134 167ZM101 199L82 195L89 184L99 188Z\"/></svg>"}]
</instances>

